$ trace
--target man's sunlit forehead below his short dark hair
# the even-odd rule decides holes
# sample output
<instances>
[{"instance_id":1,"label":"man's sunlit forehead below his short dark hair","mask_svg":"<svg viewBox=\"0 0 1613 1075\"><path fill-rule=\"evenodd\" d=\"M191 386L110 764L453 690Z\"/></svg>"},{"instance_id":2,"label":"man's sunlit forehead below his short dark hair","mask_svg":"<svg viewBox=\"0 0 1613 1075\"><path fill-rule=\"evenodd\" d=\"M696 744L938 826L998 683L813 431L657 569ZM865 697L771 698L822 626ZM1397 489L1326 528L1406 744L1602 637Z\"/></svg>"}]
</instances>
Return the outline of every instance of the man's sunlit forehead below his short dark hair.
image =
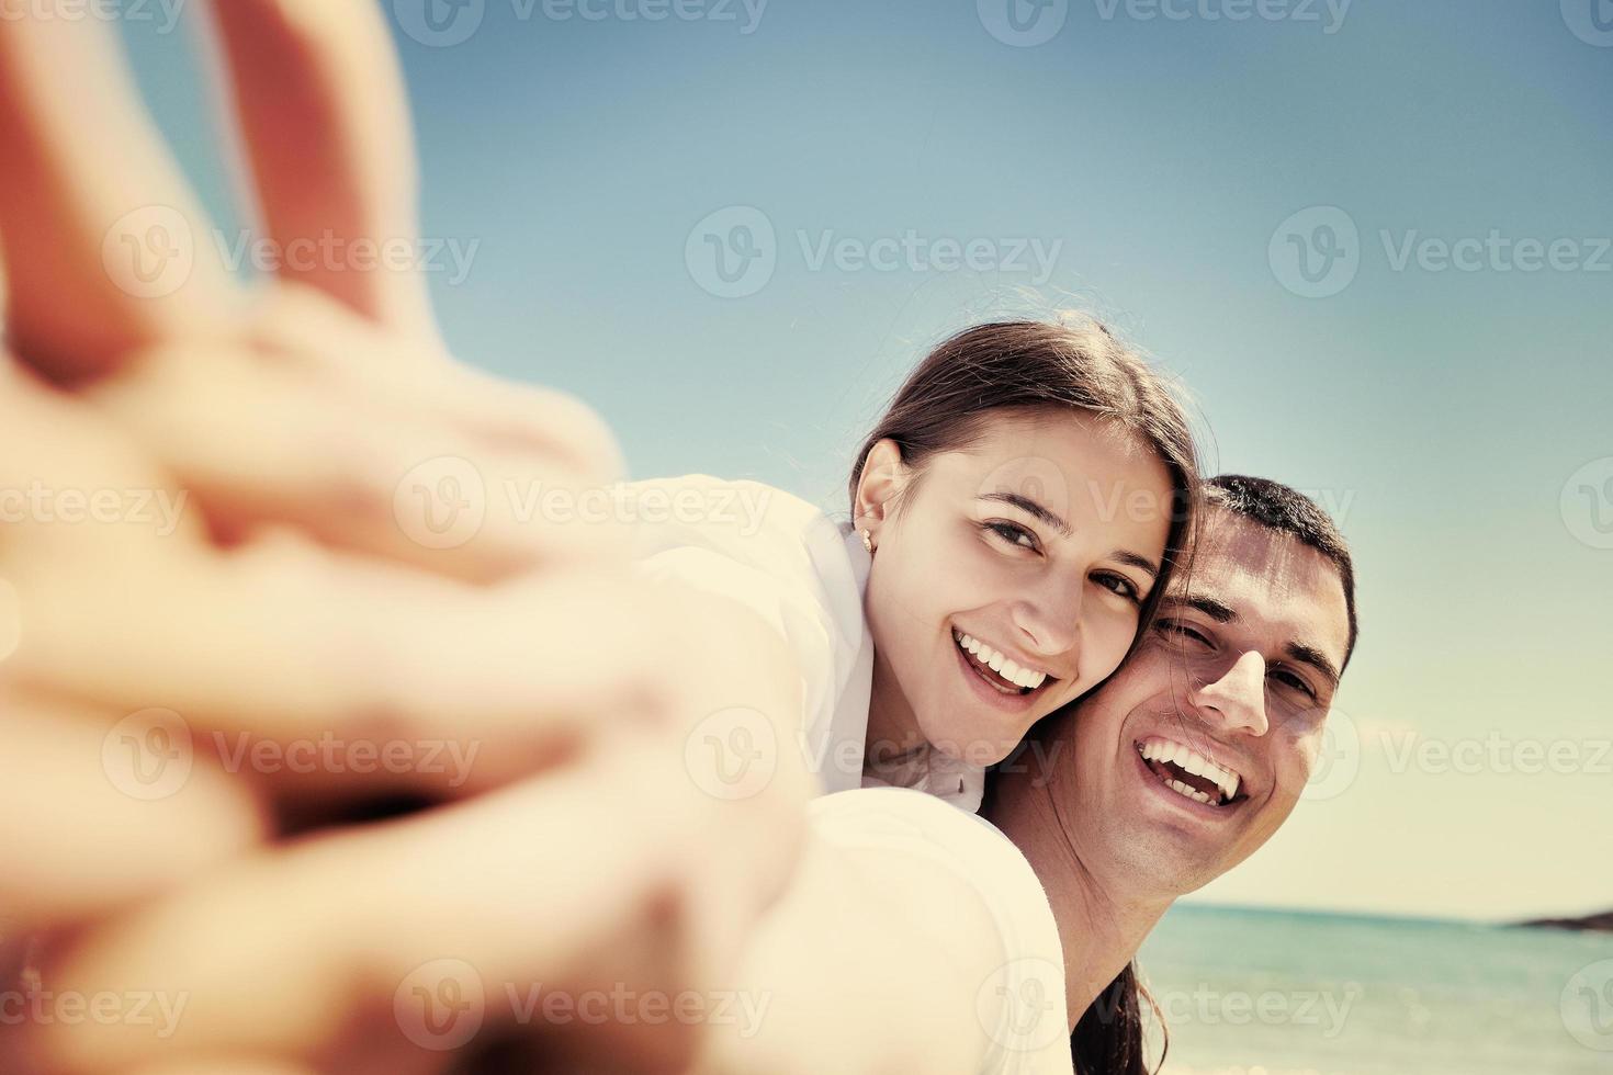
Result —
<instances>
[{"instance_id":1,"label":"man's sunlit forehead below his short dark hair","mask_svg":"<svg viewBox=\"0 0 1613 1075\"><path fill-rule=\"evenodd\" d=\"M1239 622L1316 646L1334 667L1350 643L1350 617L1337 566L1287 533L1224 508L1211 508L1198 532L1192 567L1173 596L1215 601Z\"/></svg>"}]
</instances>

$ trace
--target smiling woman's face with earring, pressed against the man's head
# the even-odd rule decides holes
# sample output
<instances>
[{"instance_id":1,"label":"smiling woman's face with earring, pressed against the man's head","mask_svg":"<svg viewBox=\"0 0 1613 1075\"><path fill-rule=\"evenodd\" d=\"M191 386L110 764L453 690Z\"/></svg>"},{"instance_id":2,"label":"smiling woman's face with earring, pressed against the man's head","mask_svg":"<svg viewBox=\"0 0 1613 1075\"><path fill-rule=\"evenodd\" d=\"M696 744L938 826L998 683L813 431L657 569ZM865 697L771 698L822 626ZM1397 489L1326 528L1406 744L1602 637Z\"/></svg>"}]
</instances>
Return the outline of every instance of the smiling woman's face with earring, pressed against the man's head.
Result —
<instances>
[{"instance_id":1,"label":"smiling woman's face with earring, pressed against the man's head","mask_svg":"<svg viewBox=\"0 0 1613 1075\"><path fill-rule=\"evenodd\" d=\"M874 532L873 757L916 730L944 754L1002 761L1032 724L1113 672L1155 585L1169 472L1119 425L1002 411L921 471L881 442L858 484Z\"/></svg>"}]
</instances>

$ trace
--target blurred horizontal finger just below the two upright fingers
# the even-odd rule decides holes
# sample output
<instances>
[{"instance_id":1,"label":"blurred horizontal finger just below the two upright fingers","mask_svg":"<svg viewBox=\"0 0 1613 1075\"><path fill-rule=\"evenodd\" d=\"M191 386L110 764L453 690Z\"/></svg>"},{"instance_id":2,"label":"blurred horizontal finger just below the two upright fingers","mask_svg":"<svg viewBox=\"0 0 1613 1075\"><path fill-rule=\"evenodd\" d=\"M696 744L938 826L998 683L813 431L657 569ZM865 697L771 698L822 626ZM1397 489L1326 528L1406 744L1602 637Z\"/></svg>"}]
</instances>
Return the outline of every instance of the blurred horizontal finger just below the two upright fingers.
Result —
<instances>
[{"instance_id":1,"label":"blurred horizontal finger just below the two upright fingers","mask_svg":"<svg viewBox=\"0 0 1613 1075\"><path fill-rule=\"evenodd\" d=\"M89 396L239 538L295 525L326 545L490 582L624 556L606 490L542 448L240 350L163 348ZM197 406L205 398L206 406Z\"/></svg>"}]
</instances>

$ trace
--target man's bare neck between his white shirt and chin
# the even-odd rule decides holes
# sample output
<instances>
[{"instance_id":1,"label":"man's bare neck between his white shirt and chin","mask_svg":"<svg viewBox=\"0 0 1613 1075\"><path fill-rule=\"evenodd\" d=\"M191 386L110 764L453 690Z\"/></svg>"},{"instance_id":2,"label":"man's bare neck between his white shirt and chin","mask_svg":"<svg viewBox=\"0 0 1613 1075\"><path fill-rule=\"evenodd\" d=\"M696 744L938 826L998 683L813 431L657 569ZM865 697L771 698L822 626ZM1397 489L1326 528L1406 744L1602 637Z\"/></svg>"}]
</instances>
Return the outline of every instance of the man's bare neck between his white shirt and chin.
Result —
<instances>
[{"instance_id":1,"label":"man's bare neck between his white shirt and chin","mask_svg":"<svg viewBox=\"0 0 1613 1075\"><path fill-rule=\"evenodd\" d=\"M1110 878L1095 875L1066 835L1048 782L1036 777L1000 774L986 817L1019 848L1047 891L1065 949L1065 999L1074 1028L1132 961L1171 901L1119 891Z\"/></svg>"}]
</instances>

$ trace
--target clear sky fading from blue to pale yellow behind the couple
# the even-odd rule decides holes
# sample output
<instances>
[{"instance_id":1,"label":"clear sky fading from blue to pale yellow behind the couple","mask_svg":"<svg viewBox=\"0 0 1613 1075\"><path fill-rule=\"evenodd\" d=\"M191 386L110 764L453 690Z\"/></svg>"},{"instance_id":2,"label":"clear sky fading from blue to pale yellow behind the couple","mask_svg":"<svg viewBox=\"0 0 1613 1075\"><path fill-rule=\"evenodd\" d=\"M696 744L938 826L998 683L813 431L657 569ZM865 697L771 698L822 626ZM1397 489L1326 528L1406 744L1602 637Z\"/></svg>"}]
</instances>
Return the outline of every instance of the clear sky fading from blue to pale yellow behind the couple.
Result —
<instances>
[{"instance_id":1,"label":"clear sky fading from blue to pale yellow behind the couple","mask_svg":"<svg viewBox=\"0 0 1613 1075\"><path fill-rule=\"evenodd\" d=\"M1331 783L1205 898L1613 904L1608 0L1055 0L1034 45L1008 0L469 0L436 39L419 2L387 8L423 232L476 243L434 274L466 361L577 392L637 474L842 509L939 337L1092 309L1358 558ZM232 227L187 35L127 29Z\"/></svg>"}]
</instances>

